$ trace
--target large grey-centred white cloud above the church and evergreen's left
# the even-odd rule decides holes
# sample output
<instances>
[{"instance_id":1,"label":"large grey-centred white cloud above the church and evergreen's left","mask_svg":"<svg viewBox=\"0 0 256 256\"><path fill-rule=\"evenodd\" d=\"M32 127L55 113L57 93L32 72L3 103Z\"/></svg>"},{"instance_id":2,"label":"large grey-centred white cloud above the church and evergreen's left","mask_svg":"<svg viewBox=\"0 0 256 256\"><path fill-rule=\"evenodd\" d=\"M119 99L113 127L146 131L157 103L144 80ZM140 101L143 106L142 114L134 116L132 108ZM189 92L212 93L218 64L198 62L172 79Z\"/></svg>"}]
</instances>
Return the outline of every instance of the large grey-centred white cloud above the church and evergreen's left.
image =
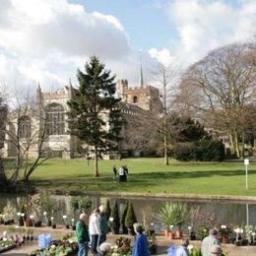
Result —
<instances>
[{"instance_id":1,"label":"large grey-centred white cloud above the church and evergreen's left","mask_svg":"<svg viewBox=\"0 0 256 256\"><path fill-rule=\"evenodd\" d=\"M3 4L4 3L4 4ZM88 13L67 0L5 0L0 8L0 84L42 87L76 81L89 56L120 63L129 38L113 16ZM125 68L124 62L124 68ZM111 69L111 67L109 67Z\"/></svg>"}]
</instances>

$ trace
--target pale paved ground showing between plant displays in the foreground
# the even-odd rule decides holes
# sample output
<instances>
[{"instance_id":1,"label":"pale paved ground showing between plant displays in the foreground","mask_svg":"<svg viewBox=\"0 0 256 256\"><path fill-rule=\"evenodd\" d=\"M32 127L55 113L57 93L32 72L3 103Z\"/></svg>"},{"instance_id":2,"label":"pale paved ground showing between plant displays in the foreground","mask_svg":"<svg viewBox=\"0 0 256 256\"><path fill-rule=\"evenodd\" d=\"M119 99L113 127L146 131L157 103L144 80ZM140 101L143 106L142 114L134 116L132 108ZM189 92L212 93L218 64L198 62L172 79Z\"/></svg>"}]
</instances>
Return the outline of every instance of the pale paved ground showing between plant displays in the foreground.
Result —
<instances>
[{"instance_id":1,"label":"pale paved ground showing between plant displays in the foreground","mask_svg":"<svg viewBox=\"0 0 256 256\"><path fill-rule=\"evenodd\" d=\"M0 225L0 232L4 231L6 226ZM49 227L38 227L34 228L34 235L37 236L42 232L49 232L52 234L54 238L61 238L63 235L67 233L74 233L69 229L65 229L63 226L59 225L57 229L51 229ZM112 245L115 244L115 239L120 235L113 235L109 233L107 235L107 242L110 242ZM130 237L133 240L133 237ZM180 243L179 239L169 240L162 234L157 234L157 243L158 243L158 254L157 255L166 255L166 250L169 246L175 244L178 245ZM194 247L199 248L201 246L201 241L190 241ZM228 256L254 256L256 255L256 246L235 246L233 244L222 244L222 247L226 252L228 252ZM17 247L8 252L2 253L1 255L9 255L9 256L25 256L30 255L32 251L37 248L37 241L29 242L25 246ZM91 254L90 254L91 255Z\"/></svg>"}]
</instances>

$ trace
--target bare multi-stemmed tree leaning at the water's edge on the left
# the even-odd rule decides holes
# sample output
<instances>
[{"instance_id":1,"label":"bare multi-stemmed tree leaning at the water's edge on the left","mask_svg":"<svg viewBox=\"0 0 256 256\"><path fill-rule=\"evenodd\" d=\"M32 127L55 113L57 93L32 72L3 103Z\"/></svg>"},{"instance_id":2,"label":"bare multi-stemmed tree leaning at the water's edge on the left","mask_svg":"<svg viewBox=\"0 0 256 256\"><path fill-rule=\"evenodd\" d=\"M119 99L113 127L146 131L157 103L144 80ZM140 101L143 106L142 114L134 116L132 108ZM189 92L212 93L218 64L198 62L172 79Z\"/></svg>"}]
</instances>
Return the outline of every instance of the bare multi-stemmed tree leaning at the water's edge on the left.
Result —
<instances>
[{"instance_id":1,"label":"bare multi-stemmed tree leaning at the water's edge on the left","mask_svg":"<svg viewBox=\"0 0 256 256\"><path fill-rule=\"evenodd\" d=\"M5 122L5 143L15 158L8 180L12 184L20 181L28 183L33 171L42 162L54 157L44 145L50 135L47 107L29 95L16 96L14 101Z\"/></svg>"}]
</instances>

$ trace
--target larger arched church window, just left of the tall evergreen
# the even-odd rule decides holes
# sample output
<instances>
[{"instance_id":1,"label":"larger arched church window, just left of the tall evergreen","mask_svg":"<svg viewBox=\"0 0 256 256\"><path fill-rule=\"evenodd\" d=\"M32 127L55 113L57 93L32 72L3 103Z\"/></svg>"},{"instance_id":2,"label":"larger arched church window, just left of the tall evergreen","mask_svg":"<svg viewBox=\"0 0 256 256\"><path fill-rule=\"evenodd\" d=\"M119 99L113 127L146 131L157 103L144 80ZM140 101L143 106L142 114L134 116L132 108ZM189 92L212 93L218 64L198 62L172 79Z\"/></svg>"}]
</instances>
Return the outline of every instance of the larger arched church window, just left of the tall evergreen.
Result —
<instances>
[{"instance_id":1,"label":"larger arched church window, just left of the tall evergreen","mask_svg":"<svg viewBox=\"0 0 256 256\"><path fill-rule=\"evenodd\" d=\"M65 131L64 107L51 103L46 107L46 134L62 135Z\"/></svg>"}]
</instances>

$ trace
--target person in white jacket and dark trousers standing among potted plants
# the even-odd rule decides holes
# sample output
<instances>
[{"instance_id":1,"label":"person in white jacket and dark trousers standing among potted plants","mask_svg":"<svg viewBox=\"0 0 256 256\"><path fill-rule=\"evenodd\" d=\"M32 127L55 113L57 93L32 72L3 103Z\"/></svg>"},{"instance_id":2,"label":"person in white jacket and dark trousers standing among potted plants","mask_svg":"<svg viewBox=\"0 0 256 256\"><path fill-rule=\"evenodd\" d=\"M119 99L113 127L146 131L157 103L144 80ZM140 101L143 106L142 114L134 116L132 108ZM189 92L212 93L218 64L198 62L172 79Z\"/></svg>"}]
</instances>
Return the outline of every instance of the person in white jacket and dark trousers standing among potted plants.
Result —
<instances>
[{"instance_id":1,"label":"person in white jacket and dark trousers standing among potted plants","mask_svg":"<svg viewBox=\"0 0 256 256\"><path fill-rule=\"evenodd\" d=\"M101 234L100 222L99 222L99 210L95 209L89 219L89 233L91 235L91 250L93 254L96 254L96 247L98 244L98 238Z\"/></svg>"}]
</instances>

